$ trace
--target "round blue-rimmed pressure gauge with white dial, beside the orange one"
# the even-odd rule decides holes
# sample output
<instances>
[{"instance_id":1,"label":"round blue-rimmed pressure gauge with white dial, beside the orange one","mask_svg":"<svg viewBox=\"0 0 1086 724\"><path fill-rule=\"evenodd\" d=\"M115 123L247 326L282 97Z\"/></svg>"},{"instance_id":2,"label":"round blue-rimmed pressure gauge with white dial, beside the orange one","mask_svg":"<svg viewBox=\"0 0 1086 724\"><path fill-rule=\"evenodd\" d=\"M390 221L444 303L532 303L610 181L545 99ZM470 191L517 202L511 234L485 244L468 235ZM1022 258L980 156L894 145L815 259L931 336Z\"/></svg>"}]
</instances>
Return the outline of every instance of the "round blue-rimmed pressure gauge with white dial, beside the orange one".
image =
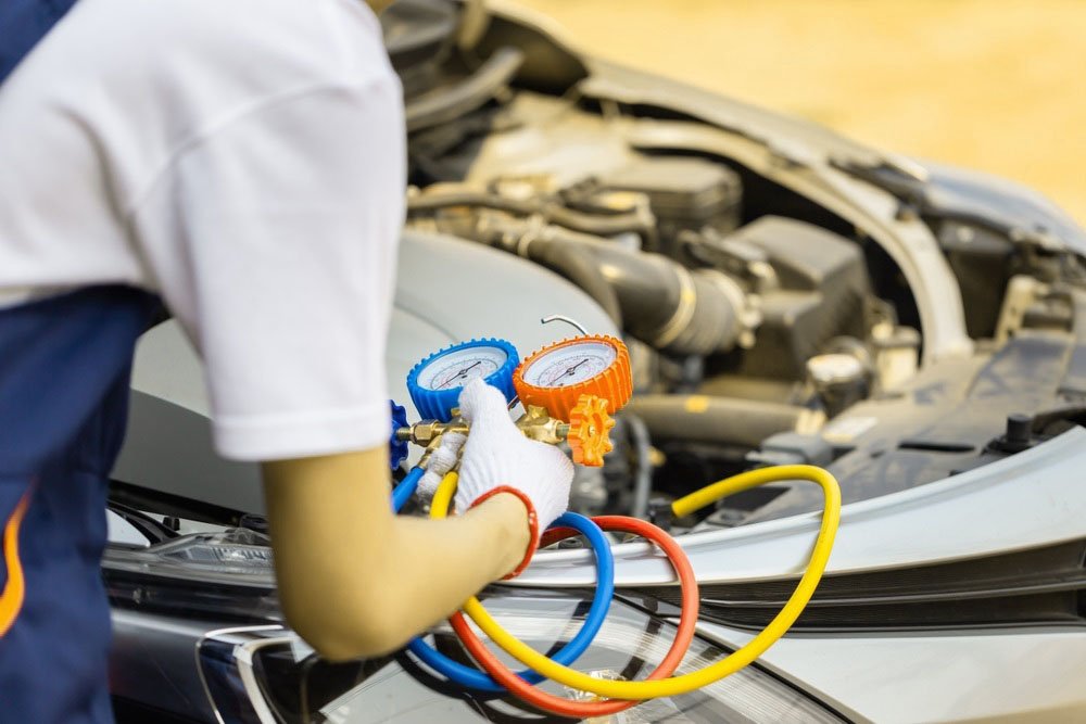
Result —
<instances>
[{"instance_id":1,"label":"round blue-rimmed pressure gauge with white dial, beside the orange one","mask_svg":"<svg viewBox=\"0 0 1086 724\"><path fill-rule=\"evenodd\" d=\"M424 420L449 422L460 390L476 378L484 379L513 402L513 370L520 364L517 348L505 340L471 340L435 352L415 365L407 376L407 392Z\"/></svg>"}]
</instances>

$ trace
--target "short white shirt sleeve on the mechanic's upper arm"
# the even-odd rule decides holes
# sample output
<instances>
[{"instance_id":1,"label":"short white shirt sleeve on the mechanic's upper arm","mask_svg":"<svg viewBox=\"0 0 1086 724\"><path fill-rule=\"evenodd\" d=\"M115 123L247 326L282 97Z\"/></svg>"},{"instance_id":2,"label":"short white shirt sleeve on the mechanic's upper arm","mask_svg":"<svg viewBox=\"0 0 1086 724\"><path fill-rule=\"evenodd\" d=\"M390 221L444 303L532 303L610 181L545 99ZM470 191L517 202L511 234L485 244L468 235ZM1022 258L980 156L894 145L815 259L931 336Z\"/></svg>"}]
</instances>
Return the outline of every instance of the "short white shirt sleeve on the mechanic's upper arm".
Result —
<instances>
[{"instance_id":1,"label":"short white shirt sleeve on the mechanic's upper arm","mask_svg":"<svg viewBox=\"0 0 1086 724\"><path fill-rule=\"evenodd\" d=\"M204 358L225 457L388 440L404 132L392 74L287 92L193 139L134 213L160 290Z\"/></svg>"}]
</instances>

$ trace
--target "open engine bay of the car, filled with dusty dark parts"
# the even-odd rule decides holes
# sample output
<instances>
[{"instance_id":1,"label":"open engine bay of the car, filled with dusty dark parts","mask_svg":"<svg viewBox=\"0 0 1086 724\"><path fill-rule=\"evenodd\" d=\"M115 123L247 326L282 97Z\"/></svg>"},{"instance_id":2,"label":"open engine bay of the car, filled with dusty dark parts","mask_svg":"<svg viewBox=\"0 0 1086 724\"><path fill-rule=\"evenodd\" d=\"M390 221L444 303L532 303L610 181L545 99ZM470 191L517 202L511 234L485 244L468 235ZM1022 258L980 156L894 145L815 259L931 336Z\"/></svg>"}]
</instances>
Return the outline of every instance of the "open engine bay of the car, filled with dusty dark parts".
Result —
<instances>
[{"instance_id":1,"label":"open engine bay of the car, filled with dusty dark parts","mask_svg":"<svg viewBox=\"0 0 1086 724\"><path fill-rule=\"evenodd\" d=\"M464 14L445 22L470 23ZM832 161L893 190L892 216L935 240L968 334L937 350L922 308L940 301L909 278L900 251L727 152L749 138L685 109L603 98L593 91L605 84L578 77L553 48L533 58L495 45L509 28L488 22L473 45L451 33L424 62L391 46L408 102L407 225L545 267L622 330L635 396L606 467L579 471L576 510L651 516L782 462L829 466L846 501L863 499L1075 424L1086 392L1076 255L983 219L925 214L893 188L900 169ZM790 158L803 153L775 151L803 175ZM674 524L731 526L817 504L782 486Z\"/></svg>"}]
</instances>

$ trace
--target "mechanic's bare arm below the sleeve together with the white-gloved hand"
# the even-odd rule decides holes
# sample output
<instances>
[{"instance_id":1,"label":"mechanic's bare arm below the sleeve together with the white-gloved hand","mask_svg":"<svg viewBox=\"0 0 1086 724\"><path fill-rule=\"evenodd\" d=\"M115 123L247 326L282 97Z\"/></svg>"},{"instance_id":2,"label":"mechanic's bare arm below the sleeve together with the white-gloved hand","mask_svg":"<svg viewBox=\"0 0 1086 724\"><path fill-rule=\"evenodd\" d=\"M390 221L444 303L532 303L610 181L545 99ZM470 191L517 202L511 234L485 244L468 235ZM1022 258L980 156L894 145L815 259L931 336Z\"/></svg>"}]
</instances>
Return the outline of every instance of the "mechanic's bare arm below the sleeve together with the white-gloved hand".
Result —
<instances>
[{"instance_id":1,"label":"mechanic's bare arm below the sleeve together with the white-gloved hand","mask_svg":"<svg viewBox=\"0 0 1086 724\"><path fill-rule=\"evenodd\" d=\"M481 380L459 402L470 434L455 498L464 515L456 518L394 516L383 446L264 463L283 610L323 656L402 646L513 571L534 550L539 530L566 509L569 458L520 434L505 398ZM492 494L498 486L517 494ZM534 539L517 495L531 501Z\"/></svg>"}]
</instances>

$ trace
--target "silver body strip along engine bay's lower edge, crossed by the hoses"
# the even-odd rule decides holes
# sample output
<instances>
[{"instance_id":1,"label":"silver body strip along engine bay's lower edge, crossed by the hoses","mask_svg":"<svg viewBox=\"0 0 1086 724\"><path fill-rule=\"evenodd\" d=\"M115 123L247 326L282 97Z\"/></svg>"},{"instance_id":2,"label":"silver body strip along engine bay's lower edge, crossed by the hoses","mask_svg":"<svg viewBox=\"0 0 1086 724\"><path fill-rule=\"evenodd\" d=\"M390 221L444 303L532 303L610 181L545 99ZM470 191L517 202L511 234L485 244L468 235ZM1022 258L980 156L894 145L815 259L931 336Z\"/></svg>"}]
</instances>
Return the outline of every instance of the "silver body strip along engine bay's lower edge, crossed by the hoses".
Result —
<instances>
[{"instance_id":1,"label":"silver body strip along engine bay's lower edge, crossed by the hoses","mask_svg":"<svg viewBox=\"0 0 1086 724\"><path fill-rule=\"evenodd\" d=\"M954 478L861 500L842 509L828 572L921 567L1038 548L1082 538L1086 521L1086 431L1059 437ZM793 516L679 538L698 581L735 583L792 577L807 567L820 515ZM673 580L660 555L640 543L614 546L620 585ZM584 586L591 554L541 551L515 585Z\"/></svg>"}]
</instances>

